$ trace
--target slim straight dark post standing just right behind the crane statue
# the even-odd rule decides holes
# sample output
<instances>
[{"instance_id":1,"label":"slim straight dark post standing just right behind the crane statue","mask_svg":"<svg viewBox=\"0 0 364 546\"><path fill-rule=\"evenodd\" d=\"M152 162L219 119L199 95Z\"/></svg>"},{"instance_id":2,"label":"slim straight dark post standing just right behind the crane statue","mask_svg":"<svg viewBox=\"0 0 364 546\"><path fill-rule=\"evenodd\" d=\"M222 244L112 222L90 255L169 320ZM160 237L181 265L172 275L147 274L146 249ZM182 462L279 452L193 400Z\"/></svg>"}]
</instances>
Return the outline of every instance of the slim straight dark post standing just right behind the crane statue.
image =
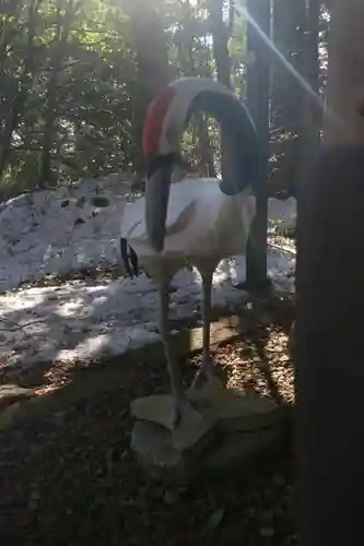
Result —
<instances>
[{"instance_id":1,"label":"slim straight dark post standing just right behind the crane statue","mask_svg":"<svg viewBox=\"0 0 364 546\"><path fill-rule=\"evenodd\" d=\"M248 0L249 16L267 36L270 35L271 7L270 0ZM251 292L261 292L269 281L267 278L267 177L269 146L269 56L256 26L248 25L248 51L251 59L247 74L247 105L256 123L261 143L262 161L256 181L257 216L251 226L251 235L247 248L247 287ZM253 244L254 241L254 244Z\"/></svg>"}]
</instances>

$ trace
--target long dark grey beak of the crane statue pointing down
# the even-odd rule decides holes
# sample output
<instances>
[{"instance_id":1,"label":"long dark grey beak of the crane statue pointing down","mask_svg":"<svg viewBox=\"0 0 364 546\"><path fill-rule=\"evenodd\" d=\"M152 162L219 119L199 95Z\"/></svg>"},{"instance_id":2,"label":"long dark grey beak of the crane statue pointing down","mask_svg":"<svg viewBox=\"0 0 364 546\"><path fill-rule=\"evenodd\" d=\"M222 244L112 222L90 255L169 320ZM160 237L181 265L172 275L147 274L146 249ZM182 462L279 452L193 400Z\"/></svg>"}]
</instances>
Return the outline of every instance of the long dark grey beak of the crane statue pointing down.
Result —
<instances>
[{"instance_id":1,"label":"long dark grey beak of the crane statue pointing down","mask_svg":"<svg viewBox=\"0 0 364 546\"><path fill-rule=\"evenodd\" d=\"M145 188L145 226L156 252L164 249L172 166L160 167L148 178Z\"/></svg>"}]
</instances>

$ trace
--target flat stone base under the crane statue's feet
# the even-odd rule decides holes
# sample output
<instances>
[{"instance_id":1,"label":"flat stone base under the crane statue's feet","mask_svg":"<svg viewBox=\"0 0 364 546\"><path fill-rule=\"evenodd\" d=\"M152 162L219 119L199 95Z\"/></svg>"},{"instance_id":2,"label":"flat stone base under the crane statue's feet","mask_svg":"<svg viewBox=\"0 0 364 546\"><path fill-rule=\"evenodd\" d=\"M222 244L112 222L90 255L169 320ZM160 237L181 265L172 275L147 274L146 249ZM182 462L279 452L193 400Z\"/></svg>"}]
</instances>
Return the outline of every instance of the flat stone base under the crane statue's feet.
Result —
<instances>
[{"instance_id":1,"label":"flat stone base under the crane statue's feet","mask_svg":"<svg viewBox=\"0 0 364 546\"><path fill-rule=\"evenodd\" d=\"M181 423L171 427L171 395L138 399L131 412L131 449L155 476L186 479L195 471L223 468L250 458L277 439L280 412L270 399L256 393L207 384L186 392Z\"/></svg>"}]
</instances>

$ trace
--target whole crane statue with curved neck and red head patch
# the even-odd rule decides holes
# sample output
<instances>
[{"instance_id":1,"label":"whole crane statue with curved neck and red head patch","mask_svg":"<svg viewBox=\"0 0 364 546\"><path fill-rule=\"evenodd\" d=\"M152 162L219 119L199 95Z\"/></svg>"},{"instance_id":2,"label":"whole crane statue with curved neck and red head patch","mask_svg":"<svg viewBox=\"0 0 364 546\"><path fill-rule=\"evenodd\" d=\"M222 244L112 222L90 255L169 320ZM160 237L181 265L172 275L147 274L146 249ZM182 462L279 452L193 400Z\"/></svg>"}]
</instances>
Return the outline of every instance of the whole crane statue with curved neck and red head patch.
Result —
<instances>
[{"instance_id":1,"label":"whole crane statue with curved neck and red head patch","mask_svg":"<svg viewBox=\"0 0 364 546\"><path fill-rule=\"evenodd\" d=\"M193 111L213 115L226 134L231 152L228 179L186 178L171 183L181 135ZM253 186L261 157L247 108L227 87L204 78L176 80L152 100L145 116L143 153L145 195L126 206L120 234L158 284L160 331L172 384L169 428L175 430L184 415L190 417L197 408L185 394L171 347L169 284L186 264L201 274L203 354L191 389L199 389L206 379L218 383L210 354L212 276L222 259L246 249L256 214Z\"/></svg>"}]
</instances>

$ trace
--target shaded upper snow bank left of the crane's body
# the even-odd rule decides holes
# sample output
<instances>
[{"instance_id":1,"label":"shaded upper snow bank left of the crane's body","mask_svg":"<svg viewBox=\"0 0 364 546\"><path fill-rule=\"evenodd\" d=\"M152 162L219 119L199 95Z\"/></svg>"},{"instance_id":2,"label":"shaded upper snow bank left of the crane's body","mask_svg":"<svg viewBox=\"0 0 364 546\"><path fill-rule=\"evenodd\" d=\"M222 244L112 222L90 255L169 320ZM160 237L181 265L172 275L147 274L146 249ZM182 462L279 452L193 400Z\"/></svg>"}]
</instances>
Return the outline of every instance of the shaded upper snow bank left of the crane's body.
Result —
<instances>
[{"instance_id":1,"label":"shaded upper snow bank left of the crane's body","mask_svg":"<svg viewBox=\"0 0 364 546\"><path fill-rule=\"evenodd\" d=\"M47 273L115 263L129 190L120 185L116 193L103 180L86 180L73 191L38 191L1 205L0 293Z\"/></svg>"}]
</instances>

